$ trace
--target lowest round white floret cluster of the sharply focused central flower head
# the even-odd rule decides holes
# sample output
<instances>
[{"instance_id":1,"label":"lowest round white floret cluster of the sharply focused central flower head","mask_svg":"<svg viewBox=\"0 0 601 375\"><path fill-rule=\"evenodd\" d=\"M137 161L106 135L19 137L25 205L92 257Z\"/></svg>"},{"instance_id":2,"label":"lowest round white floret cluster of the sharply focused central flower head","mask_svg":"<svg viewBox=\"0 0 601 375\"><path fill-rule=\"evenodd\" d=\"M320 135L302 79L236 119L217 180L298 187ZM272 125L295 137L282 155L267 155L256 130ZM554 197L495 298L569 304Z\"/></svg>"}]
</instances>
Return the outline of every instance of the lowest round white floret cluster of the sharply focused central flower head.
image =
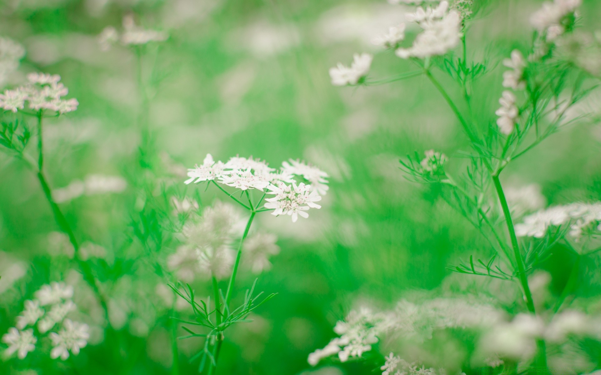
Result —
<instances>
[{"instance_id":1,"label":"lowest round white floret cluster of the sharply focused central flower head","mask_svg":"<svg viewBox=\"0 0 601 375\"><path fill-rule=\"evenodd\" d=\"M296 185L293 182L291 185L278 182L277 185L269 185L267 194L275 194L273 198L267 198L265 208L274 209L273 215L290 215L293 223L298 220L298 215L304 218L309 217L307 214L309 208L322 208L315 202L322 200L322 197L317 195L317 191L311 191L309 185Z\"/></svg>"}]
</instances>

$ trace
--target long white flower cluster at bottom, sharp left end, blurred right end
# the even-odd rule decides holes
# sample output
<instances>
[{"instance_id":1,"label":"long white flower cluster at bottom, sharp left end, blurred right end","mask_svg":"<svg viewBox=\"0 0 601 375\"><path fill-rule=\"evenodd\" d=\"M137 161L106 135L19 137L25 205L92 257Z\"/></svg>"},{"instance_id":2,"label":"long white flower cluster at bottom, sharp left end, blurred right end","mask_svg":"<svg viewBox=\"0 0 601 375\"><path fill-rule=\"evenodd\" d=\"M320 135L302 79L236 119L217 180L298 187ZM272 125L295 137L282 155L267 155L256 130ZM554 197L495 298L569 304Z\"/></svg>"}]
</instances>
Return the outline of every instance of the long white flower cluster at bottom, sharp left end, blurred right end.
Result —
<instances>
[{"instance_id":1,"label":"long white flower cluster at bottom, sharp left end, blurred right end","mask_svg":"<svg viewBox=\"0 0 601 375\"><path fill-rule=\"evenodd\" d=\"M371 350L381 335L391 333L404 340L423 341L437 329L483 329L502 320L503 314L490 305L463 299L436 298L415 304L400 301L393 311L374 313L368 308L352 311L346 320L338 322L334 338L323 349L311 353L308 362L316 365L323 358L338 355L341 361L360 357Z\"/></svg>"}]
</instances>

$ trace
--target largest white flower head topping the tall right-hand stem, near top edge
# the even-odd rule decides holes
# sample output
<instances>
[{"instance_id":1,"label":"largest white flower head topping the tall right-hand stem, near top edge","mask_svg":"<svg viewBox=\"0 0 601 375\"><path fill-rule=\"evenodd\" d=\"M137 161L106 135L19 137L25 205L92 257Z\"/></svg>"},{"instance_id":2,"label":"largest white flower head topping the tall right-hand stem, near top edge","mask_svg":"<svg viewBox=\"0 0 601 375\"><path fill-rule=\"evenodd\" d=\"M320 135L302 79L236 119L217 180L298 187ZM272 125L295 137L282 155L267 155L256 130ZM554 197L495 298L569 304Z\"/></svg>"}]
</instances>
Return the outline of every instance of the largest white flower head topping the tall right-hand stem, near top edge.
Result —
<instances>
[{"instance_id":1,"label":"largest white flower head topping the tall right-hand stem, near top edge","mask_svg":"<svg viewBox=\"0 0 601 375\"><path fill-rule=\"evenodd\" d=\"M456 10L449 10L447 1L442 1L436 8L419 7L415 13L407 14L406 20L418 23L423 32L415 37L411 47L397 49L400 58L444 55L461 41L461 16Z\"/></svg>"}]
</instances>

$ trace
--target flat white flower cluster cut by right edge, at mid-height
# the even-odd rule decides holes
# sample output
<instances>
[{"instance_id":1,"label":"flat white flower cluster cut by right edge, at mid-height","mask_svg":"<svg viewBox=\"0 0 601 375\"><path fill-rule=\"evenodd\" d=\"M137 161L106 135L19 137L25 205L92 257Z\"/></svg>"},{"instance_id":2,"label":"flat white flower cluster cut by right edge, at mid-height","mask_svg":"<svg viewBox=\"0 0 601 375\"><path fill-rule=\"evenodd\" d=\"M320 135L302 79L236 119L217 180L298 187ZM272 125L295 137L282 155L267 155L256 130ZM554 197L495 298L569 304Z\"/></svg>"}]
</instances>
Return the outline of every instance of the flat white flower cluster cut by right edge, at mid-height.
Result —
<instances>
[{"instance_id":1,"label":"flat white flower cluster cut by right edge, at mid-height","mask_svg":"<svg viewBox=\"0 0 601 375\"><path fill-rule=\"evenodd\" d=\"M601 231L601 203L572 203L535 212L516 224L516 235L543 238L549 227L567 224L570 235L581 238L585 230Z\"/></svg>"}]
</instances>

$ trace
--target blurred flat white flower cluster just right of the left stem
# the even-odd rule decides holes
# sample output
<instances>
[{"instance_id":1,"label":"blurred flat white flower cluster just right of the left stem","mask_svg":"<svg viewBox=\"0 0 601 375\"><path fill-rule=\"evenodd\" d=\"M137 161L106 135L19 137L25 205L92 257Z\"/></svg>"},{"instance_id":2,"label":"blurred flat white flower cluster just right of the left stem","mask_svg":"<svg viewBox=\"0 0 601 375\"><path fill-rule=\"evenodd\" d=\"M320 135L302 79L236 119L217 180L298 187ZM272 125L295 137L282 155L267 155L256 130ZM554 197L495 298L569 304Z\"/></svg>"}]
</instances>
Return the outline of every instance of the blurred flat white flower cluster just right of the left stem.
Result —
<instances>
[{"instance_id":1,"label":"blurred flat white flower cluster just right of the left stem","mask_svg":"<svg viewBox=\"0 0 601 375\"><path fill-rule=\"evenodd\" d=\"M119 176L90 175L84 181L73 181L63 188L52 190L56 203L65 203L83 195L121 193L127 188L127 181Z\"/></svg>"}]
</instances>

